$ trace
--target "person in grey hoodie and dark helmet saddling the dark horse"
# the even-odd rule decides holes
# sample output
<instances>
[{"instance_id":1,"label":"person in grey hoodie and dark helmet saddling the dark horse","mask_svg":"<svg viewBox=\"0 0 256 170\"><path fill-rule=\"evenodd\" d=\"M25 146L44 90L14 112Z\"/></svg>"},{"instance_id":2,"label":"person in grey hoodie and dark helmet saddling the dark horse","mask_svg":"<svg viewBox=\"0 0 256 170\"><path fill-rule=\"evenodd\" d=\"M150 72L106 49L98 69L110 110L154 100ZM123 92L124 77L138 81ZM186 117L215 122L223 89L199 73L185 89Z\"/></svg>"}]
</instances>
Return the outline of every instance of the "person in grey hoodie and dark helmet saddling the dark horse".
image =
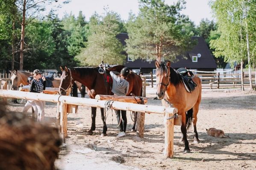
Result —
<instances>
[{"instance_id":1,"label":"person in grey hoodie and dark helmet saddling the dark horse","mask_svg":"<svg viewBox=\"0 0 256 170\"><path fill-rule=\"evenodd\" d=\"M111 71L110 75L113 79L112 92L114 95L126 96L129 90L129 82L126 80L129 75L130 70L127 67L124 67L121 70L121 73ZM122 115L122 119L120 119L120 112ZM115 110L116 118L118 124L120 124L120 133L118 133L117 137L125 136L126 126L127 126L127 117L126 110Z\"/></svg>"}]
</instances>

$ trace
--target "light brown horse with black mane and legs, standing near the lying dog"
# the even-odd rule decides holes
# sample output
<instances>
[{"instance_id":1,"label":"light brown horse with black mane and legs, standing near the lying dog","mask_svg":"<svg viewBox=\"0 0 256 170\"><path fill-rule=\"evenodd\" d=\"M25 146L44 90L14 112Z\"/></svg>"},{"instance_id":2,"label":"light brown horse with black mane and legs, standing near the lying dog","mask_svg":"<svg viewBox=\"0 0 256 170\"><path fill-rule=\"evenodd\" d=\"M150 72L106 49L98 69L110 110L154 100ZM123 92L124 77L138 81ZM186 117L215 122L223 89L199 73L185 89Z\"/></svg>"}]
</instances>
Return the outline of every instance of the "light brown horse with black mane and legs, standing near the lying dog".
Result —
<instances>
[{"instance_id":1,"label":"light brown horse with black mane and legs, standing near the lying dog","mask_svg":"<svg viewBox=\"0 0 256 170\"><path fill-rule=\"evenodd\" d=\"M182 116L182 137L179 141L185 141L185 149L183 153L189 153L190 149L188 147L187 130L191 125L191 118L193 118L194 124L194 143L199 142L197 133L197 113L201 101L201 80L197 76L194 76L193 81L197 84L197 86L192 92L187 92L181 75L171 67L170 61L161 65L156 61L155 64L157 68L157 98L165 98L167 101L173 104L173 107L178 109L178 114Z\"/></svg>"}]
</instances>

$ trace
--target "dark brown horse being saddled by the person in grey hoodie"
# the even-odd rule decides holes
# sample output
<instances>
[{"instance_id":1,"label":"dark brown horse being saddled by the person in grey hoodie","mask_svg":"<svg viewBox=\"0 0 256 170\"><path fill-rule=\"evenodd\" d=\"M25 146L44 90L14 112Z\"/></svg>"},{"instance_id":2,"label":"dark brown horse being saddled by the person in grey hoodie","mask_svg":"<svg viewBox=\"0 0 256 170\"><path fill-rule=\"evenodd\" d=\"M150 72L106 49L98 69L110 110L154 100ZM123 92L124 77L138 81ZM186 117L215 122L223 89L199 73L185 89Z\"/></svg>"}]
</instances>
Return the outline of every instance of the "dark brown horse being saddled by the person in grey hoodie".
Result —
<instances>
[{"instance_id":1,"label":"dark brown horse being saddled by the person in grey hoodie","mask_svg":"<svg viewBox=\"0 0 256 170\"><path fill-rule=\"evenodd\" d=\"M109 90L109 84L105 83L104 75L99 73L99 67L74 67L68 69L65 66L65 69L62 69L62 76L60 82L60 94L65 95L67 89L72 85L74 81L78 81L86 86L86 92L90 98L95 98L96 95L113 95ZM121 69L124 68L122 65L117 65L109 71L121 72ZM127 77L129 82L129 91L128 95L133 93L136 96L142 95L142 80L139 75L134 72L130 72ZM96 118L96 107L91 107L91 129L87 132L88 135L92 135L95 130L95 118ZM107 126L104 120L104 109L100 108L101 119L103 121L103 133L106 135ZM136 121L132 129L135 129Z\"/></svg>"}]
</instances>

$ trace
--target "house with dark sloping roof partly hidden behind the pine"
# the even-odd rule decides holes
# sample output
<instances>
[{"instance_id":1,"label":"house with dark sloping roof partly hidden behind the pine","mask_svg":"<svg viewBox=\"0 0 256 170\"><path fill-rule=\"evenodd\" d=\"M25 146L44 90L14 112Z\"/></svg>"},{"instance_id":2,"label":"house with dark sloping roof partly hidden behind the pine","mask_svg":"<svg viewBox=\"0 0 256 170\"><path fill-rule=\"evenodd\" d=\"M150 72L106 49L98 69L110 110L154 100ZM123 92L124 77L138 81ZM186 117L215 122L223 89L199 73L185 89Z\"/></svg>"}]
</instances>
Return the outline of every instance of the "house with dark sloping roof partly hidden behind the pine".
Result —
<instances>
[{"instance_id":1,"label":"house with dark sloping roof partly hidden behind the pine","mask_svg":"<svg viewBox=\"0 0 256 170\"><path fill-rule=\"evenodd\" d=\"M128 39L127 33L121 33L117 35L117 38L121 41L123 45L126 45L125 40ZM171 63L171 66L174 69L178 69L181 67L187 69L194 69L200 71L214 71L217 68L217 64L206 45L205 40L203 37L192 37L192 40L197 40L197 45L194 48L185 53L186 58L181 56L177 56L178 61ZM132 61L129 59L129 55L127 55L126 62L124 66L132 69L134 72L155 72L156 66L154 61L146 61L146 60L135 60Z\"/></svg>"}]
</instances>

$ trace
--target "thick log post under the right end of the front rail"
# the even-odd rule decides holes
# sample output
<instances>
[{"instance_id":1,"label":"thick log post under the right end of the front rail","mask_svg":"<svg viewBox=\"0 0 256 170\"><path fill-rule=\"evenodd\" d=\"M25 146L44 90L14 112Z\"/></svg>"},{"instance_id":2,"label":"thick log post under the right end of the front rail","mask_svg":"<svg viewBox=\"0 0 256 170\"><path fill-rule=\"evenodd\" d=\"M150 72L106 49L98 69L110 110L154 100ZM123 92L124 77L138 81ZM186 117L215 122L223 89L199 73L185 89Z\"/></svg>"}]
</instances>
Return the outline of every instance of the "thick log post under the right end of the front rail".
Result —
<instances>
[{"instance_id":1,"label":"thick log post under the right end of the front rail","mask_svg":"<svg viewBox=\"0 0 256 170\"><path fill-rule=\"evenodd\" d=\"M174 156L174 118L167 120L166 118L173 116L172 113L165 113L165 156L173 158Z\"/></svg>"}]
</instances>

